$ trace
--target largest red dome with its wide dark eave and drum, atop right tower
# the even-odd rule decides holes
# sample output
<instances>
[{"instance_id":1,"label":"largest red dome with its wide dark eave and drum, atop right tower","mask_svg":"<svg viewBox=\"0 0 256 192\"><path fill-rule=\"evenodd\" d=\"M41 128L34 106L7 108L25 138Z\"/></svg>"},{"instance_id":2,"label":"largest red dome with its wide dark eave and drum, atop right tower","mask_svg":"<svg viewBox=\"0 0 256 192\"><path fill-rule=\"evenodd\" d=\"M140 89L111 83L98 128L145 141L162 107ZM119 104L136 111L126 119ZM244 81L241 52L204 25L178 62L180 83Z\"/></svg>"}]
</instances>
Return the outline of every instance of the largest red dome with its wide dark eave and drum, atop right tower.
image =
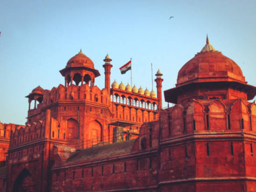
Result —
<instances>
[{"instance_id":1,"label":"largest red dome with its wide dark eave and drum, atop right tower","mask_svg":"<svg viewBox=\"0 0 256 192\"><path fill-rule=\"evenodd\" d=\"M189 60L178 73L176 87L165 90L166 102L185 103L192 99L251 100L256 87L248 85L240 67L209 44Z\"/></svg>"}]
</instances>

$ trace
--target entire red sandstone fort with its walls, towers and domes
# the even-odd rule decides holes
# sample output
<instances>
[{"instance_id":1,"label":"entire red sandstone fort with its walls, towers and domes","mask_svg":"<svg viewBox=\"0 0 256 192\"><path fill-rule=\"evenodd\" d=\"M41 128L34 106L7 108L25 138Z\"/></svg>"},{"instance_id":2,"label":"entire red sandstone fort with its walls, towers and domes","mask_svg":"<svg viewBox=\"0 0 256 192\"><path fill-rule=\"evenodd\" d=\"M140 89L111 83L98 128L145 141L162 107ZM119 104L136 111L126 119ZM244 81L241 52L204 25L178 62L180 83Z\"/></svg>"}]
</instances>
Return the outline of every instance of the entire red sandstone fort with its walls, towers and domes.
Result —
<instances>
[{"instance_id":1,"label":"entire red sandstone fort with its walls, towers and domes","mask_svg":"<svg viewBox=\"0 0 256 192\"><path fill-rule=\"evenodd\" d=\"M256 87L233 60L207 38L164 91L166 109L159 70L157 94L110 87L111 61L100 90L80 51L64 85L26 96L26 126L0 123L0 191L256 191Z\"/></svg>"}]
</instances>

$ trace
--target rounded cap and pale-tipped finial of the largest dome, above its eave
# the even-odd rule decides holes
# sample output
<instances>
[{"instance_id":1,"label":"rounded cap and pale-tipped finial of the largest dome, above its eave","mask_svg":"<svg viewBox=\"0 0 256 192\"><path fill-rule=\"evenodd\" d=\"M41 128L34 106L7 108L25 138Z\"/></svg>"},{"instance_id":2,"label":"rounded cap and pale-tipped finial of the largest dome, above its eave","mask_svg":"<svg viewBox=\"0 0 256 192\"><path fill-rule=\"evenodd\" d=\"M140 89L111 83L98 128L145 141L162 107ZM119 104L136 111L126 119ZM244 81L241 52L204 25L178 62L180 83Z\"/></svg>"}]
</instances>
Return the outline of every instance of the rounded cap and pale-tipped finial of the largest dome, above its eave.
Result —
<instances>
[{"instance_id":1,"label":"rounded cap and pale-tipped finial of the largest dome, above its eave","mask_svg":"<svg viewBox=\"0 0 256 192\"><path fill-rule=\"evenodd\" d=\"M209 44L208 38L202 51L189 60L179 71L177 84L191 82L238 81L245 83L240 67L230 58Z\"/></svg>"}]
</instances>

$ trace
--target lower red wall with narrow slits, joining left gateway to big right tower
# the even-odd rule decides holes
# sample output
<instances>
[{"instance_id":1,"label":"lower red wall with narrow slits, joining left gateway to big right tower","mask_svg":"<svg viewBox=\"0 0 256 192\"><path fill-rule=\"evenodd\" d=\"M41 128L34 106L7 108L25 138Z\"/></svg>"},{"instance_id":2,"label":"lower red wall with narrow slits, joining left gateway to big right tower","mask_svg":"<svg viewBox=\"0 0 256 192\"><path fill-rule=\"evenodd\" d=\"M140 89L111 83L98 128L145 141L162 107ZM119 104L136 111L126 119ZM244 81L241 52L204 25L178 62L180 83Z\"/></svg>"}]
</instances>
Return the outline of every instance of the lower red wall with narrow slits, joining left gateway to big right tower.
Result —
<instances>
[{"instance_id":1,"label":"lower red wall with narrow slits, joining left gateway to big right tower","mask_svg":"<svg viewBox=\"0 0 256 192\"><path fill-rule=\"evenodd\" d=\"M108 191L148 188L156 191L158 131L157 122L144 124L136 140L126 141L132 147L128 154L78 162L67 160L62 165L57 164L52 169L52 190Z\"/></svg>"}]
</instances>

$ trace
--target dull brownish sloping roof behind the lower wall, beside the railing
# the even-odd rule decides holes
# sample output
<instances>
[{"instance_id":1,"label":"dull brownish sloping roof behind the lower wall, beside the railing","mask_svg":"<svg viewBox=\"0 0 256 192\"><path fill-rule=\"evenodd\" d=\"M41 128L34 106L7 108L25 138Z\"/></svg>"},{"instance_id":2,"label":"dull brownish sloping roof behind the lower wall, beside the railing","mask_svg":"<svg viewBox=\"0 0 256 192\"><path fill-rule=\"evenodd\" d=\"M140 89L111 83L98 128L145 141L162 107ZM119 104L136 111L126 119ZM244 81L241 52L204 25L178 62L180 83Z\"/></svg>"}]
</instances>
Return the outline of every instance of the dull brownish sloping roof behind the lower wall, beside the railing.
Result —
<instances>
[{"instance_id":1,"label":"dull brownish sloping roof behind the lower wall, beside the railing","mask_svg":"<svg viewBox=\"0 0 256 192\"><path fill-rule=\"evenodd\" d=\"M90 147L88 149L74 152L67 160L66 163L77 162L88 159L106 158L109 156L127 154L132 151L136 139L107 144L104 146Z\"/></svg>"}]
</instances>

